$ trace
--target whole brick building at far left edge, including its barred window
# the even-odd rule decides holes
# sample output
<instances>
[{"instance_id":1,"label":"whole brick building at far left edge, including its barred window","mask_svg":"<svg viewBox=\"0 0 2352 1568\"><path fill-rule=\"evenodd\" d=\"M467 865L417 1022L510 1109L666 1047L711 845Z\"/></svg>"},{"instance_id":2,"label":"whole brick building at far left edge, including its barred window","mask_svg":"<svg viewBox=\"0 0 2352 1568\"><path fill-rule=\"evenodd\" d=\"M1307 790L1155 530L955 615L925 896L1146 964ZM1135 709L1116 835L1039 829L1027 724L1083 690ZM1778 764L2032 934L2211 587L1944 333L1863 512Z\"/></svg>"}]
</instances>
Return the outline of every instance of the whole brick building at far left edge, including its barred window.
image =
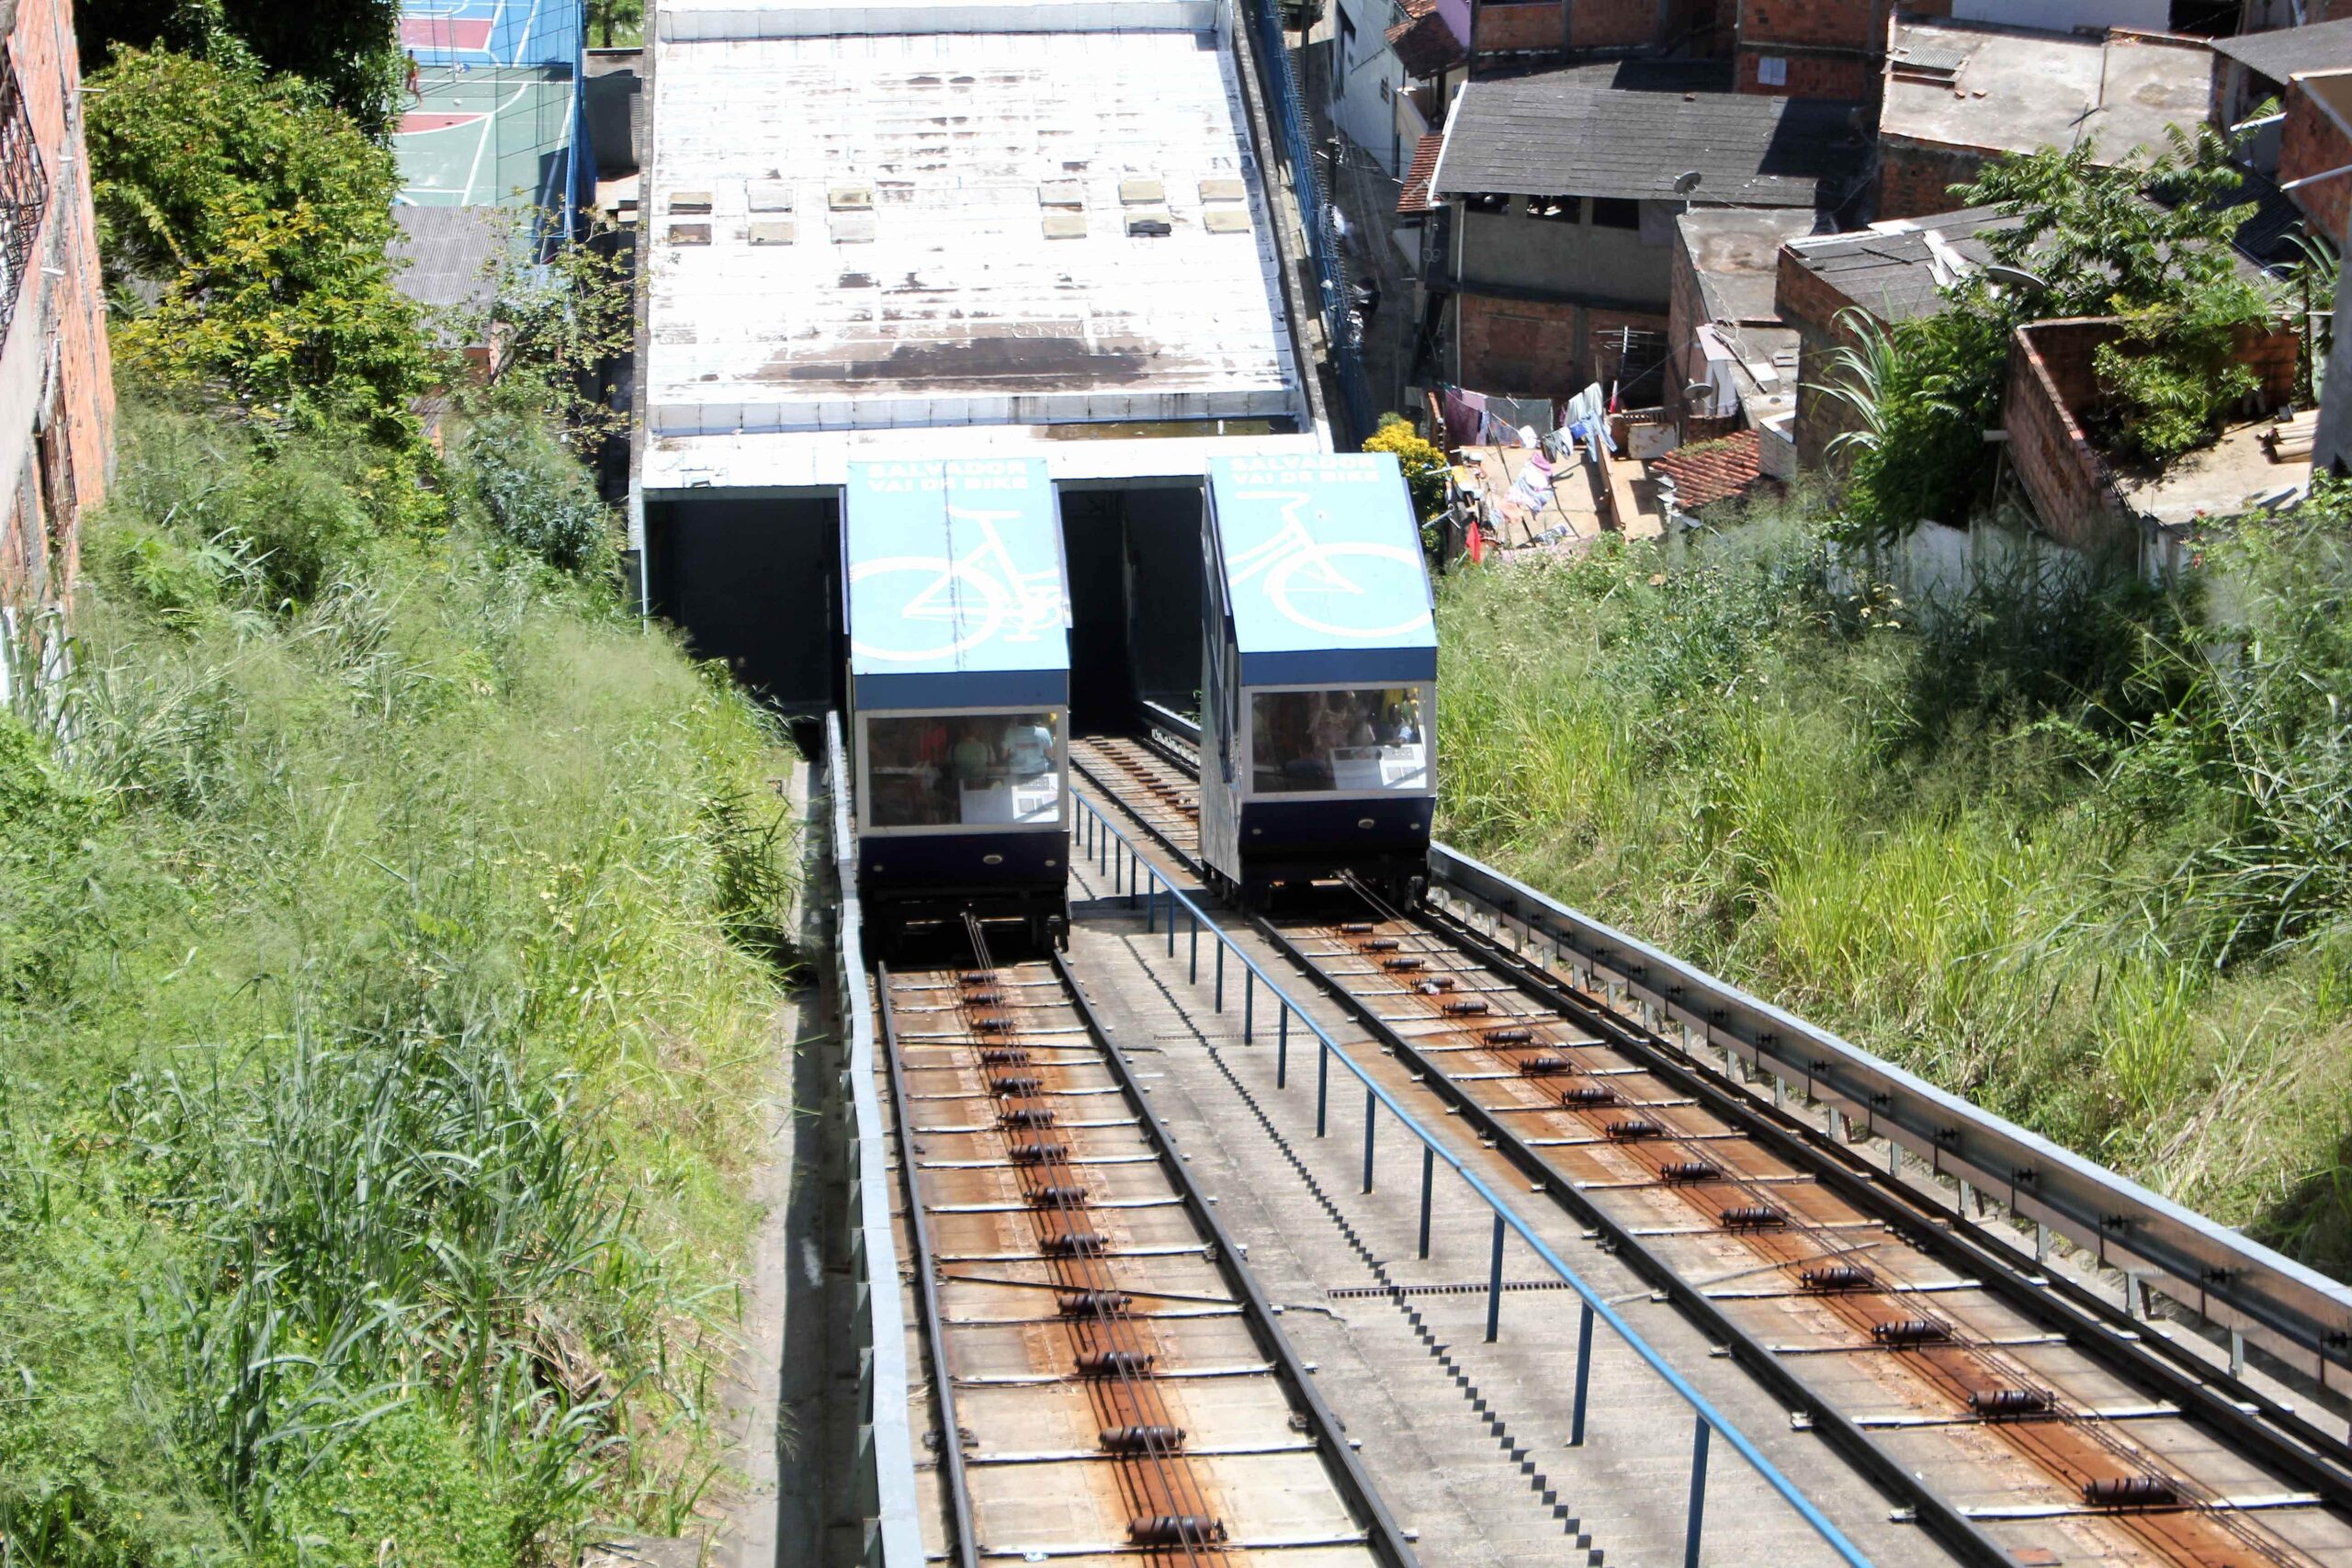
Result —
<instances>
[{"instance_id":1,"label":"whole brick building at far left edge, including its barred window","mask_svg":"<svg viewBox=\"0 0 2352 1568\"><path fill-rule=\"evenodd\" d=\"M82 71L71 0L0 0L0 696L59 654L80 520L113 477Z\"/></svg>"}]
</instances>

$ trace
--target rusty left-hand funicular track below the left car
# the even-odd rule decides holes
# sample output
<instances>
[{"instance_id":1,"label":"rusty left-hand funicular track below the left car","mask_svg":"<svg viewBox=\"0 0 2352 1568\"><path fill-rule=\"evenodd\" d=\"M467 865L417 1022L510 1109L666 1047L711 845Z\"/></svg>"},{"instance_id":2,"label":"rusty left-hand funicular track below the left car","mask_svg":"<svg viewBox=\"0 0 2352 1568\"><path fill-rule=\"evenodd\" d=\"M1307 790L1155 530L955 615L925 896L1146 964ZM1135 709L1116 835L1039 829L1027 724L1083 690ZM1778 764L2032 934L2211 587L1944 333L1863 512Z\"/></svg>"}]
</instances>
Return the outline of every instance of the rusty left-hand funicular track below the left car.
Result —
<instances>
[{"instance_id":1,"label":"rusty left-hand funicular track below the left car","mask_svg":"<svg viewBox=\"0 0 2352 1568\"><path fill-rule=\"evenodd\" d=\"M1058 957L875 971L946 1559L1409 1568Z\"/></svg>"}]
</instances>

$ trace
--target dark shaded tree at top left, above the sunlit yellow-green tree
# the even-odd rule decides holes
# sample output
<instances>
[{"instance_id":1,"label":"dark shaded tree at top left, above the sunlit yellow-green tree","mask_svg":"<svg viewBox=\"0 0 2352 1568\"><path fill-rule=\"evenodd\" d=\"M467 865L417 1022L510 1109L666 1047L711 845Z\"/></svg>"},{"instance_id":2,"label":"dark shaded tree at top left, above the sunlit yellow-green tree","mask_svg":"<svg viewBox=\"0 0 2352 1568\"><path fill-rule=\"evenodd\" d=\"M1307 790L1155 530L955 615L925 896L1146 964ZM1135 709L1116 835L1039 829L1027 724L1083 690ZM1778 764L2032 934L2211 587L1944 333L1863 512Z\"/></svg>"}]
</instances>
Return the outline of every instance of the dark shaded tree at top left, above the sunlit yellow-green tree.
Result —
<instances>
[{"instance_id":1,"label":"dark shaded tree at top left, above the sunlit yellow-green tree","mask_svg":"<svg viewBox=\"0 0 2352 1568\"><path fill-rule=\"evenodd\" d=\"M80 0L73 31L89 68L125 49L179 49L296 75L299 92L341 108L369 136L400 113L400 0Z\"/></svg>"}]
</instances>

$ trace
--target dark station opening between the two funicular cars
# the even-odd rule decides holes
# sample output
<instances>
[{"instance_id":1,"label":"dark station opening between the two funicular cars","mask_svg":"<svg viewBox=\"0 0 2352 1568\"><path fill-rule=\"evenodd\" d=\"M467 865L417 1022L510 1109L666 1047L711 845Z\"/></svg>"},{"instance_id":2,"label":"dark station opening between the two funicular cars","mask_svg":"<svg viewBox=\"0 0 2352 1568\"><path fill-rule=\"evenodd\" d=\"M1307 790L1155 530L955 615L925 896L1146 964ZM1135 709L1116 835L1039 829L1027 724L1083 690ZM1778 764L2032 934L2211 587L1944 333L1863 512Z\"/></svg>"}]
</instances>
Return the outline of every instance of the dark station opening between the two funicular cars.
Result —
<instances>
[{"instance_id":1,"label":"dark station opening between the two funicular cars","mask_svg":"<svg viewBox=\"0 0 2352 1568\"><path fill-rule=\"evenodd\" d=\"M1070 562L1070 726L1117 733L1136 701L1200 691L1200 482L1061 487Z\"/></svg>"}]
</instances>

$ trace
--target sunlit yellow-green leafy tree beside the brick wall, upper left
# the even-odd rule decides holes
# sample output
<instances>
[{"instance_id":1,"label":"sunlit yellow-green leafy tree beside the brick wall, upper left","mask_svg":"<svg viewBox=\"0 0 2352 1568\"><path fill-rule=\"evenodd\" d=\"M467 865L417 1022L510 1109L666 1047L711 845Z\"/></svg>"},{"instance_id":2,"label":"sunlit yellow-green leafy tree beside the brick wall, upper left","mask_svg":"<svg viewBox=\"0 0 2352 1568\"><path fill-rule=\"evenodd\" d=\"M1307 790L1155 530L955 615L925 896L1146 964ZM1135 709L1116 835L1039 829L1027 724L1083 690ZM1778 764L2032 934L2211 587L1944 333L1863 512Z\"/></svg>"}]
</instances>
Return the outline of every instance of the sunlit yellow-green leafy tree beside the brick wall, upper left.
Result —
<instances>
[{"instance_id":1,"label":"sunlit yellow-green leafy tree beside the brick wall, upper left","mask_svg":"<svg viewBox=\"0 0 2352 1568\"><path fill-rule=\"evenodd\" d=\"M414 442L430 357L383 254L390 153L252 68L122 49L92 78L89 155L115 282L158 284L118 315L125 369Z\"/></svg>"}]
</instances>

